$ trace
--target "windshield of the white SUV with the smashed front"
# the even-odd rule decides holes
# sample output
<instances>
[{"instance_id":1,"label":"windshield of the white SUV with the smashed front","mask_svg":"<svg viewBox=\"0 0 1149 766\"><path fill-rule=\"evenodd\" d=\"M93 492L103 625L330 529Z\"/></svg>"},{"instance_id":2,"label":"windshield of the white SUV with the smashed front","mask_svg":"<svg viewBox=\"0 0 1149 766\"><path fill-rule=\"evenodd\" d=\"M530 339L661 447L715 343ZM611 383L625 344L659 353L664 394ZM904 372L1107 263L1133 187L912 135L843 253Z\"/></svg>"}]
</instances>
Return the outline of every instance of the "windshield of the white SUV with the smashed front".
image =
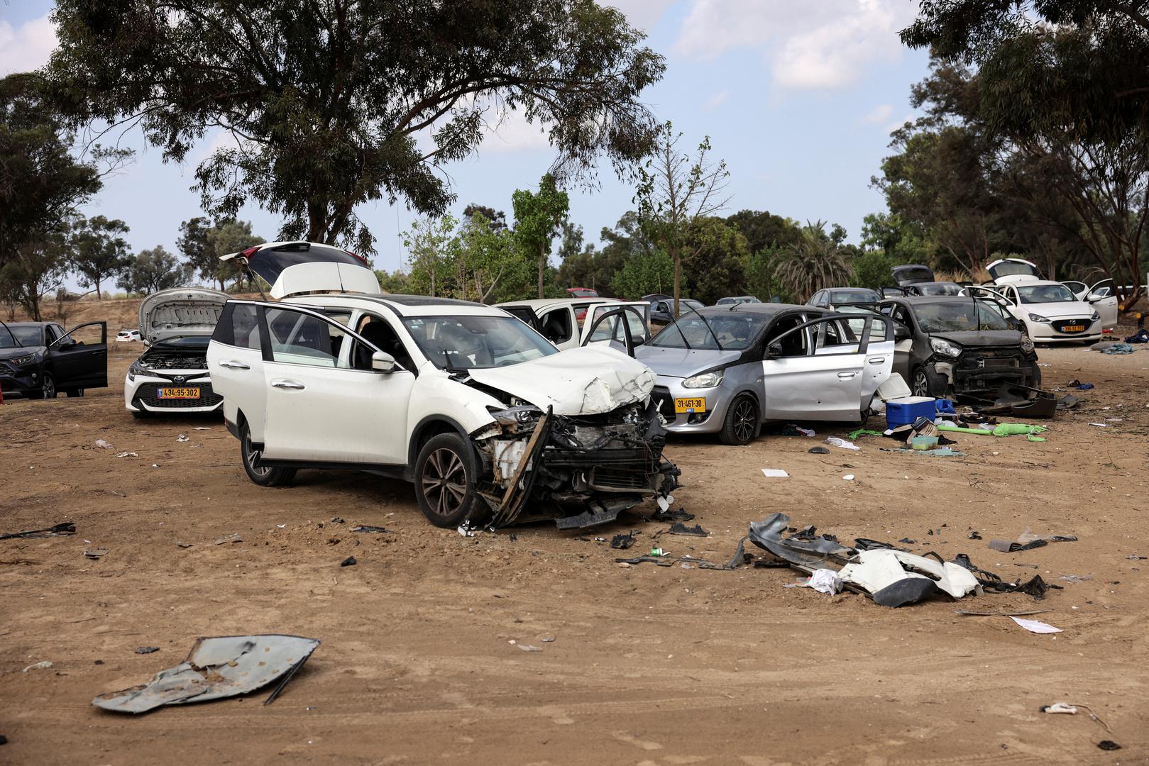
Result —
<instances>
[{"instance_id":1,"label":"windshield of the white SUV with the smashed front","mask_svg":"<svg viewBox=\"0 0 1149 766\"><path fill-rule=\"evenodd\" d=\"M403 326L440 370L506 367L558 353L515 317L407 317Z\"/></svg>"}]
</instances>

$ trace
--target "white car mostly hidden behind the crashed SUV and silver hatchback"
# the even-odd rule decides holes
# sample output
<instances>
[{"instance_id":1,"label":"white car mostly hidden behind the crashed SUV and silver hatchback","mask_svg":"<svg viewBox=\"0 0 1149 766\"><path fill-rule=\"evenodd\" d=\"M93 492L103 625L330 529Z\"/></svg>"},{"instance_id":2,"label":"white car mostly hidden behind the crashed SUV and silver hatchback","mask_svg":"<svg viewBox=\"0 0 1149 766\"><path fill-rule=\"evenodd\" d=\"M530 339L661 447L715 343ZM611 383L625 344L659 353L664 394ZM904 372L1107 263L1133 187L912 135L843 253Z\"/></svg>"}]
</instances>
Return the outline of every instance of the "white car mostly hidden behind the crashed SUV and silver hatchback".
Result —
<instances>
[{"instance_id":1,"label":"white car mostly hidden behind the crashed SUV and silver hatchback","mask_svg":"<svg viewBox=\"0 0 1149 766\"><path fill-rule=\"evenodd\" d=\"M634 345L645 343L650 339L650 304L637 301L625 302L615 299L542 299L532 301L510 301L499 303L500 309L511 314L542 333L560 349L578 348L587 343L611 342L616 348L625 346L625 332L619 320L620 316L608 318L607 322L595 320L607 311L625 308L625 317L630 325ZM586 317L591 320L587 322ZM594 327L594 335L591 328Z\"/></svg>"}]
</instances>

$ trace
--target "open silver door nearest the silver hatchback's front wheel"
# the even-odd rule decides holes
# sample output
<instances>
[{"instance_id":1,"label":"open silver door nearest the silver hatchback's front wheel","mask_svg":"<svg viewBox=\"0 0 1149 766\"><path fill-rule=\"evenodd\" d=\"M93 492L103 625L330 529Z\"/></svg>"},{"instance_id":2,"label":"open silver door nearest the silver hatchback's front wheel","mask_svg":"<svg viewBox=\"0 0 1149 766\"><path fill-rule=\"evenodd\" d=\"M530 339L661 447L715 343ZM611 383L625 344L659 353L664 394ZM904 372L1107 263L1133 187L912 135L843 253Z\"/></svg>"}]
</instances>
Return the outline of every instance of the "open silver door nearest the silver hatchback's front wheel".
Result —
<instances>
[{"instance_id":1,"label":"open silver door nearest the silver hatchback's front wheel","mask_svg":"<svg viewBox=\"0 0 1149 766\"><path fill-rule=\"evenodd\" d=\"M834 324L827 326L828 323ZM836 323L836 319L815 319L766 340L766 358L762 362L766 419L858 419L865 377L864 346L831 342L842 340ZM893 348L886 357L893 364Z\"/></svg>"}]
</instances>

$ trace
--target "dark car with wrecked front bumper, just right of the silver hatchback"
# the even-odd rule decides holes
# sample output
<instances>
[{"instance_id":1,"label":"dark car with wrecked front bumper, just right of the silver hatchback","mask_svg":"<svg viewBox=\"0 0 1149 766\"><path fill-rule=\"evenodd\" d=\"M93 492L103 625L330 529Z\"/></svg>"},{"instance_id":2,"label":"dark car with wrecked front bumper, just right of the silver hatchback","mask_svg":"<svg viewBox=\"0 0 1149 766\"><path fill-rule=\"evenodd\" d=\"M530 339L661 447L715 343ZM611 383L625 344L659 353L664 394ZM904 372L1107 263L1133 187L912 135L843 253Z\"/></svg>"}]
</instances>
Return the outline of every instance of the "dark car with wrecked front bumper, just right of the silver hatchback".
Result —
<instances>
[{"instance_id":1,"label":"dark car with wrecked front bumper, just right of the silver hatchback","mask_svg":"<svg viewBox=\"0 0 1149 766\"><path fill-rule=\"evenodd\" d=\"M986 400L1002 384L1041 387L1033 341L987 301L897 297L880 310L895 320L894 372L916 396Z\"/></svg>"}]
</instances>

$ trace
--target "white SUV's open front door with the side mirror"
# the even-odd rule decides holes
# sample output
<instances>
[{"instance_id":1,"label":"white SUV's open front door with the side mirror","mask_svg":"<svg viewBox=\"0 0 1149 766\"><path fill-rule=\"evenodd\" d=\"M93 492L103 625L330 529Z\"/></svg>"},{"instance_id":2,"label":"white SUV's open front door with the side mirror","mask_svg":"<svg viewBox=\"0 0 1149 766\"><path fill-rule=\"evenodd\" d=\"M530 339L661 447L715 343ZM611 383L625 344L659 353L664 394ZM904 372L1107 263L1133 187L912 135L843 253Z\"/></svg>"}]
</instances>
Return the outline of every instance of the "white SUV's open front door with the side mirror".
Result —
<instances>
[{"instance_id":1,"label":"white SUV's open front door with the side mirror","mask_svg":"<svg viewBox=\"0 0 1149 766\"><path fill-rule=\"evenodd\" d=\"M371 369L378 349L318 312L264 309L267 424L263 456L345 464L407 463L415 374ZM387 351L390 353L390 351Z\"/></svg>"}]
</instances>

